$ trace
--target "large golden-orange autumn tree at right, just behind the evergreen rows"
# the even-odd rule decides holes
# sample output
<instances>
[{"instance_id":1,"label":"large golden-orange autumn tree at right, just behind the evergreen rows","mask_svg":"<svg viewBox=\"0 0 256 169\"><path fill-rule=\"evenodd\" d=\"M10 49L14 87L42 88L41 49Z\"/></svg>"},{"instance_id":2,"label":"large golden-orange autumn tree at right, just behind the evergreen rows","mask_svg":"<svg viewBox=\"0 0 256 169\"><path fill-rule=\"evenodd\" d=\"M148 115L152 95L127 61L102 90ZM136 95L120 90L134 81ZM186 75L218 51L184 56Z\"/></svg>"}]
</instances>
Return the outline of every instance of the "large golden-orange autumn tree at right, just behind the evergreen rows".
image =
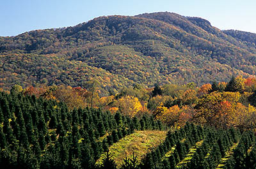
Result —
<instances>
[{"instance_id":1,"label":"large golden-orange autumn tree at right, just behind the evergreen rows","mask_svg":"<svg viewBox=\"0 0 256 169\"><path fill-rule=\"evenodd\" d=\"M212 92L198 99L193 119L200 124L208 124L217 128L245 128L250 126L256 108L239 103L239 92Z\"/></svg>"}]
</instances>

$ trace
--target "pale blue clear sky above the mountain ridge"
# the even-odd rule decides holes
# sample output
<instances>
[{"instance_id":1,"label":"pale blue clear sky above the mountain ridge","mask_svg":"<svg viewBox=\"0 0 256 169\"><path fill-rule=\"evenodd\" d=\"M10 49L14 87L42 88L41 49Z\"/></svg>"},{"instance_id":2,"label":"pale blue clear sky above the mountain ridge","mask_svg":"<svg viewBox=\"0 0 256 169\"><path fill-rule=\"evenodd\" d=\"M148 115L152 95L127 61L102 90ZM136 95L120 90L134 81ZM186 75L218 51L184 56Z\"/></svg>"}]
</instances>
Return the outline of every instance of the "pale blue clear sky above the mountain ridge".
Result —
<instances>
[{"instance_id":1,"label":"pale blue clear sky above the mountain ridge","mask_svg":"<svg viewBox=\"0 0 256 169\"><path fill-rule=\"evenodd\" d=\"M256 33L255 0L0 0L0 36L76 26L95 17L170 11Z\"/></svg>"}]
</instances>

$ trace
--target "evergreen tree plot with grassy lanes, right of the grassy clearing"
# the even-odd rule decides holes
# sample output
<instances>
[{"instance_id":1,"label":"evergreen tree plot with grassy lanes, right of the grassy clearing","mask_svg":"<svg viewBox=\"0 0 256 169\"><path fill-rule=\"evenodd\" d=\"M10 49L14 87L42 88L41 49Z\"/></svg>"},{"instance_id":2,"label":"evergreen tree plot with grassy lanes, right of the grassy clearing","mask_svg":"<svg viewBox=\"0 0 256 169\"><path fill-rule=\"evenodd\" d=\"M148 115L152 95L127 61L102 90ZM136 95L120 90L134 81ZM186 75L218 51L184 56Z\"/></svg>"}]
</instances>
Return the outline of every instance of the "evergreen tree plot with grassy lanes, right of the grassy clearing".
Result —
<instances>
[{"instance_id":1,"label":"evergreen tree plot with grassy lanes, right of the grassy clearing","mask_svg":"<svg viewBox=\"0 0 256 169\"><path fill-rule=\"evenodd\" d=\"M221 159L226 156L233 145L238 146L234 154L223 163L222 168L255 168L256 166L256 142L255 134L252 131L239 131L234 128L227 130L202 128L194 124L186 124L184 128L175 132L169 132L166 140L155 149L148 152L142 161L138 161L136 156L132 159L124 159L122 169L172 169L172 168L216 168ZM196 142L202 145L196 149L188 163L180 164L182 159L188 156L189 149ZM236 143L236 144L235 144ZM174 150L173 150L174 149ZM166 153L171 155L166 158ZM104 161L108 161L108 167L116 168L114 161L110 163L111 155L108 154ZM108 159L108 160L107 160ZM178 165L179 164L179 165ZM104 166L104 165L102 165Z\"/></svg>"}]
</instances>

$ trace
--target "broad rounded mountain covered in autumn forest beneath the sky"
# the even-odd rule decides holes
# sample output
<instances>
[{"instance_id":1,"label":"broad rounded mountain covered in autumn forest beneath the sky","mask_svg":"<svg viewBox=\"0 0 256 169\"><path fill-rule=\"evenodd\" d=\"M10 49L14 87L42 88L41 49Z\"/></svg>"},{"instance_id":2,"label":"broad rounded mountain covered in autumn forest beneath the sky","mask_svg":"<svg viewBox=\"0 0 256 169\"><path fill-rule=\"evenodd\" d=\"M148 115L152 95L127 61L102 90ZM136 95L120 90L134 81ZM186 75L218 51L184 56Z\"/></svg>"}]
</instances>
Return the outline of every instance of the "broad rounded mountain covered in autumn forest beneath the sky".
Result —
<instances>
[{"instance_id":1,"label":"broad rounded mountain covered in autumn forest beneath the sky","mask_svg":"<svg viewBox=\"0 0 256 169\"><path fill-rule=\"evenodd\" d=\"M256 70L256 34L176 13L98 17L74 27L0 37L0 87L83 85L102 95L143 84L204 84Z\"/></svg>"}]
</instances>

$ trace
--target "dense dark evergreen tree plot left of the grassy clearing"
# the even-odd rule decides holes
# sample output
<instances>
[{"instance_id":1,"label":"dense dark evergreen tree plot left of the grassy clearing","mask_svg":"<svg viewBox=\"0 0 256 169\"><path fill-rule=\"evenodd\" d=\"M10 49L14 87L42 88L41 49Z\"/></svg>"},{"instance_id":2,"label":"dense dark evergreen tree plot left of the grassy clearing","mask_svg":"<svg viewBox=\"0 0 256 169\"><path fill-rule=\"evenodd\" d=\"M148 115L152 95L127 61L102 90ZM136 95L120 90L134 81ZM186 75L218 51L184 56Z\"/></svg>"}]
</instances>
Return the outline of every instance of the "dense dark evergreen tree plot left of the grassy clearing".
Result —
<instances>
[{"instance_id":1,"label":"dense dark evergreen tree plot left of the grassy clearing","mask_svg":"<svg viewBox=\"0 0 256 169\"><path fill-rule=\"evenodd\" d=\"M130 118L99 109L0 92L0 166L95 168L100 154L134 130L163 129L147 115ZM100 142L100 136L108 136Z\"/></svg>"}]
</instances>

